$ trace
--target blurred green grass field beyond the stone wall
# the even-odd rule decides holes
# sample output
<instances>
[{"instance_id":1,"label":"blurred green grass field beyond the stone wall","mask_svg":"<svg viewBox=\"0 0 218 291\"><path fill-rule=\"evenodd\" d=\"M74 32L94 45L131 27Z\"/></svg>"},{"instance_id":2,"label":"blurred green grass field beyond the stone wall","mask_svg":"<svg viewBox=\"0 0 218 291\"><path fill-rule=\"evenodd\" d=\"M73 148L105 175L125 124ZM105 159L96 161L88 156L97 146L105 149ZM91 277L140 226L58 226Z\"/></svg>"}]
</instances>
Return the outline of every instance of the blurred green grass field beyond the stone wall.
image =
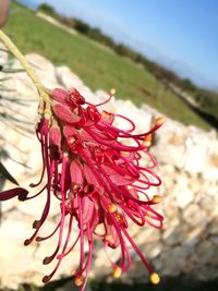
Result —
<instances>
[{"instance_id":1,"label":"blurred green grass field beyond the stone wall","mask_svg":"<svg viewBox=\"0 0 218 291\"><path fill-rule=\"evenodd\" d=\"M71 35L53 26L17 3L12 4L11 19L4 32L22 52L35 51L56 65L70 66L94 90L114 87L119 98L131 99L138 106L146 102L184 124L210 129L142 66L81 35Z\"/></svg>"}]
</instances>

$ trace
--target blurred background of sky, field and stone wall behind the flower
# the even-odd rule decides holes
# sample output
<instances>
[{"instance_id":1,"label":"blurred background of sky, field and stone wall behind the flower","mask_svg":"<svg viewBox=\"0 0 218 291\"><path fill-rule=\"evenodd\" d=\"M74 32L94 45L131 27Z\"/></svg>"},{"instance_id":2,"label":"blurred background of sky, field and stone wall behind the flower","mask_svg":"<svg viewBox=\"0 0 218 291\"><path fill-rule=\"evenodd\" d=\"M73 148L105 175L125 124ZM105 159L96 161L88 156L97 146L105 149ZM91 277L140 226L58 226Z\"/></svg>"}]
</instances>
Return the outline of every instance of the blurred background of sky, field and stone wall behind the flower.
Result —
<instances>
[{"instance_id":1,"label":"blurred background of sky, field and stone wall behind the flower","mask_svg":"<svg viewBox=\"0 0 218 291\"><path fill-rule=\"evenodd\" d=\"M141 132L154 116L166 118L152 148L164 181L158 210L165 226L160 232L132 227L162 282L152 287L134 254L129 274L107 279L97 245L87 290L218 290L217 13L216 0L11 3L3 31L47 87L76 87L93 102L114 87L116 98L105 108L132 118ZM19 62L0 48L1 162L27 185L40 169L37 94ZM1 187L8 189L9 180L2 178ZM72 262L57 276L64 279L37 287L45 274L41 255L52 242L23 248L36 216L33 204L1 206L0 290L73 290L66 278ZM56 213L49 223L55 220Z\"/></svg>"}]
</instances>

